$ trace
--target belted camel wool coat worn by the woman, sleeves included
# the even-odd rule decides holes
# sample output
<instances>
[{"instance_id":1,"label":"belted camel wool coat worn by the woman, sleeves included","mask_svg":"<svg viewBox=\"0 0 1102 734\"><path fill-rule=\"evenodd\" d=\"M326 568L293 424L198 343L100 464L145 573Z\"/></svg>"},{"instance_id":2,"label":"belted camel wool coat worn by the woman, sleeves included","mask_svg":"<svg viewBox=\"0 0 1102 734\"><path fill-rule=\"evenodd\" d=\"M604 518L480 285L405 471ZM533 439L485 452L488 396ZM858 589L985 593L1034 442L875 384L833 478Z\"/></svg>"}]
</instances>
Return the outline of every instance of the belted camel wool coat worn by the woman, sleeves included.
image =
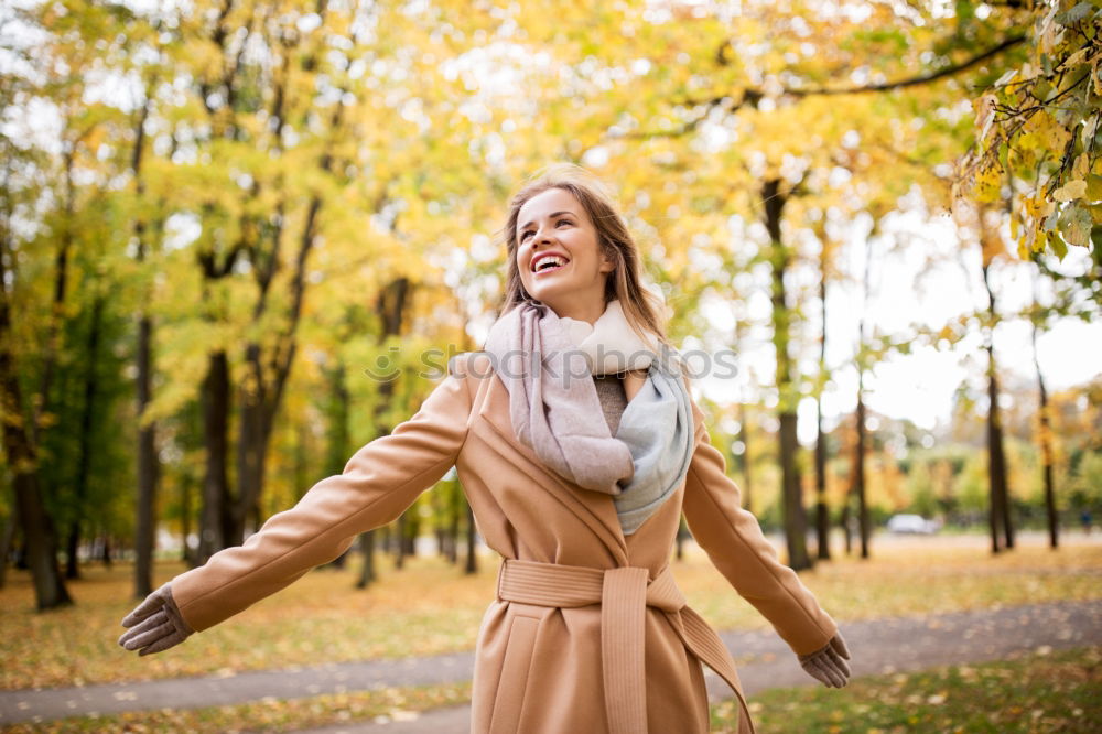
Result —
<instances>
[{"instance_id":1,"label":"belted camel wool coat worn by the woman, sleeves included","mask_svg":"<svg viewBox=\"0 0 1102 734\"><path fill-rule=\"evenodd\" d=\"M417 414L244 546L176 576L173 597L196 632L216 625L396 519L455 465L479 533L504 559L478 633L472 732L706 732L701 661L726 670L742 695L730 655L669 573L682 512L793 652L822 648L836 627L741 508L692 408L696 443L684 483L625 537L612 496L566 482L516 439L488 356L460 355Z\"/></svg>"}]
</instances>

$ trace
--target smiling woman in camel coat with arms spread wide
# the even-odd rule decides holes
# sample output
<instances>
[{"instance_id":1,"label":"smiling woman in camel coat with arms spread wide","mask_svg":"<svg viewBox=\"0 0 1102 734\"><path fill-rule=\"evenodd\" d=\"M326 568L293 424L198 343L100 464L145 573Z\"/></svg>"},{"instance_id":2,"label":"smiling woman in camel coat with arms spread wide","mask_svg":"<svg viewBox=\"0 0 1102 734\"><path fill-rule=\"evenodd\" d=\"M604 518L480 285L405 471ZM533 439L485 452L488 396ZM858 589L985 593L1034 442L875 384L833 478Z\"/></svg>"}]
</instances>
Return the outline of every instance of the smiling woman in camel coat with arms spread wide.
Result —
<instances>
[{"instance_id":1,"label":"smiling woman in camel coat with arms spread wide","mask_svg":"<svg viewBox=\"0 0 1102 734\"><path fill-rule=\"evenodd\" d=\"M159 589L119 643L168 649L390 522L455 465L504 559L478 634L474 732L706 732L702 662L734 663L669 571L693 537L804 669L844 686L833 620L741 509L607 195L557 166L512 199L504 315L409 421L244 546ZM602 420L602 418L604 420Z\"/></svg>"}]
</instances>

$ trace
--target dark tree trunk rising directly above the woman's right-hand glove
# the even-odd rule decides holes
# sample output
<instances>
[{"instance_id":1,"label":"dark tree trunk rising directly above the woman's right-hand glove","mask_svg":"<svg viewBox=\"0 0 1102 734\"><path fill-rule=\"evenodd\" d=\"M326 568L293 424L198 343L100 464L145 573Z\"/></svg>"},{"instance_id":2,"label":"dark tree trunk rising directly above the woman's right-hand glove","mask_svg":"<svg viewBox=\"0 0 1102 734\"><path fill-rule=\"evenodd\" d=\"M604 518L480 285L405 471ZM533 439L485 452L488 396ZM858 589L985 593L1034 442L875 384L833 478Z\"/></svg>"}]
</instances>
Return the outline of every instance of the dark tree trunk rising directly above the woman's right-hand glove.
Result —
<instances>
[{"instance_id":1,"label":"dark tree trunk rising directly above the woman's right-hand glove","mask_svg":"<svg viewBox=\"0 0 1102 734\"><path fill-rule=\"evenodd\" d=\"M781 515L785 539L788 544L788 564L799 571L811 568L811 557L807 546L807 517L803 511L799 479L796 472L796 454L799 441L796 435L796 408L799 400L798 388L792 379L792 360L789 354L789 326L791 310L788 307L785 276L791 257L780 240L781 212L787 201L780 193L780 181L767 181L761 188L765 206L766 229L770 239L773 263L773 327L774 347L777 360L777 393L780 430L778 431L781 474Z\"/></svg>"}]
</instances>

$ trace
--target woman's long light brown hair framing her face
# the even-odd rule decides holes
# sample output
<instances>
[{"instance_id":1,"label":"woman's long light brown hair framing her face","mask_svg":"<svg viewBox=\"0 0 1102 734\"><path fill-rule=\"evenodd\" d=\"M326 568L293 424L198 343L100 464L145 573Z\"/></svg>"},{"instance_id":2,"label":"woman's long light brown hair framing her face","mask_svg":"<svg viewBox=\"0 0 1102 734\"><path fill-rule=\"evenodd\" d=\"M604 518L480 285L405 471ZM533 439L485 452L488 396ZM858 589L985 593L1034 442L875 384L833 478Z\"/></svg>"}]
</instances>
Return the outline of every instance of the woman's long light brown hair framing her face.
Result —
<instances>
[{"instance_id":1,"label":"woman's long light brown hair framing her face","mask_svg":"<svg viewBox=\"0 0 1102 734\"><path fill-rule=\"evenodd\" d=\"M666 337L661 299L647 290L640 279L641 263L639 247L628 231L624 218L617 214L613 197L605 185L585 169L571 163L555 163L537 172L509 202L509 216L498 238L505 242L508 252L508 274L501 313L525 302L536 302L525 290L517 267L517 218L520 208L532 197L551 188L569 192L582 205L597 230L597 246L609 258L614 268L605 280L605 304L616 299L631 328L646 338L653 335L662 344Z\"/></svg>"}]
</instances>

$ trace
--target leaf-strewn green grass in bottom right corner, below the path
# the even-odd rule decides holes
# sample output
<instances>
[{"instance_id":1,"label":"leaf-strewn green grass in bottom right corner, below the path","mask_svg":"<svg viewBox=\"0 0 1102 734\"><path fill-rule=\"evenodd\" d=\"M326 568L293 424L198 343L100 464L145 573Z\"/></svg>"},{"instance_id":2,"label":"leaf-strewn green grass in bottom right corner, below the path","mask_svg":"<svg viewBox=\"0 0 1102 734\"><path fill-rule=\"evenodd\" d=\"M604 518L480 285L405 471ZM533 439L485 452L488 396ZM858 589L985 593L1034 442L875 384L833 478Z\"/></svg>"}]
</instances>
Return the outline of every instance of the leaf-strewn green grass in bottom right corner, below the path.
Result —
<instances>
[{"instance_id":1,"label":"leaf-strewn green grass in bottom right corner, below the path","mask_svg":"<svg viewBox=\"0 0 1102 734\"><path fill-rule=\"evenodd\" d=\"M1014 660L858 678L845 689L766 691L749 701L759 734L1098 732L1102 648L1044 648ZM735 732L734 702L712 706L712 731Z\"/></svg>"}]
</instances>

